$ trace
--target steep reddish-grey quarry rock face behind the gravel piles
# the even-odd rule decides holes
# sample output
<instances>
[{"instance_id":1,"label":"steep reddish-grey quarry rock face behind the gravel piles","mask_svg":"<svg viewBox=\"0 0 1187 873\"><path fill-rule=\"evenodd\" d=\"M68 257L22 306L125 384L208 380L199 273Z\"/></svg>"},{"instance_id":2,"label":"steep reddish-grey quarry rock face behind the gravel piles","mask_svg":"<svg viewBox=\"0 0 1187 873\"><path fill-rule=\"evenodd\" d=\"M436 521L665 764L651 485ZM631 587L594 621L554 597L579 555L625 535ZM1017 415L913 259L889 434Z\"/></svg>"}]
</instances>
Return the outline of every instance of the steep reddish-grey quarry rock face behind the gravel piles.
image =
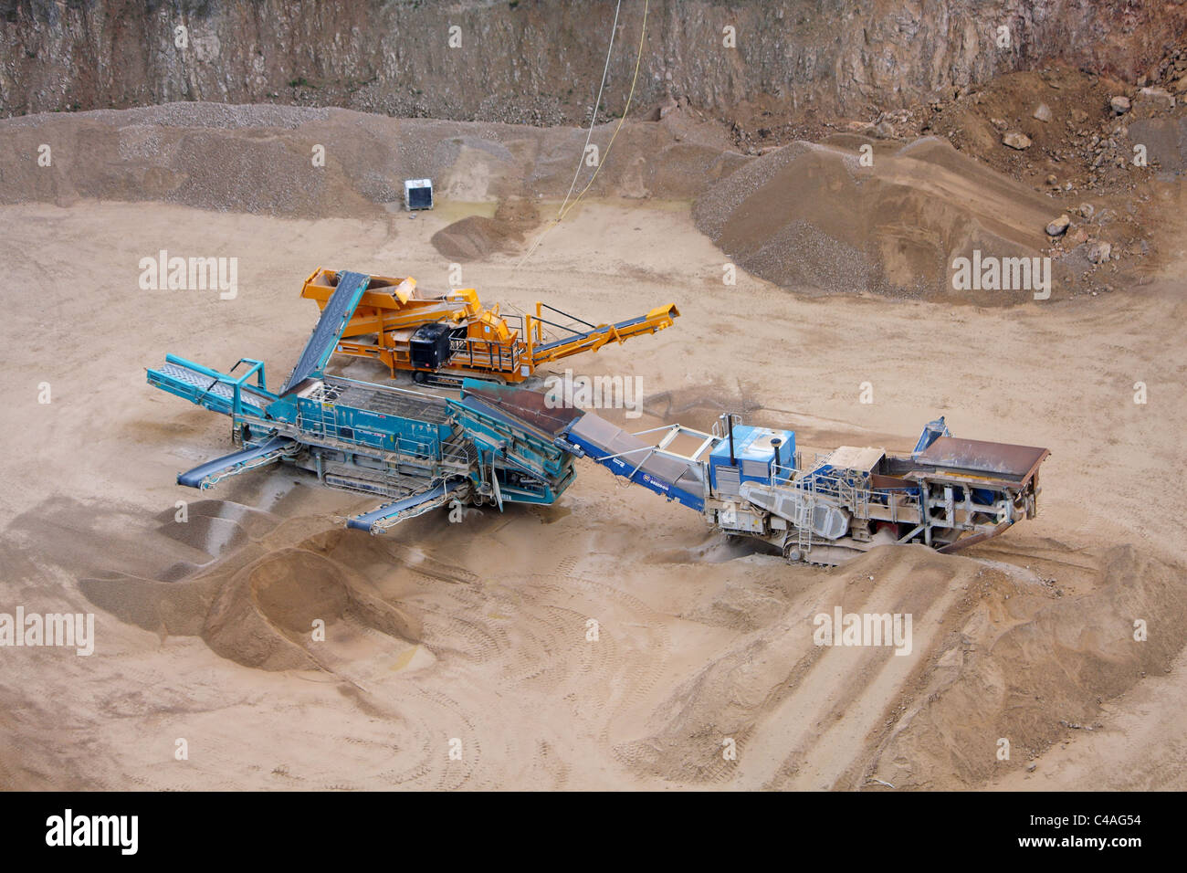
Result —
<instances>
[{"instance_id":1,"label":"steep reddish-grey quarry rock face behind the gravel piles","mask_svg":"<svg viewBox=\"0 0 1187 873\"><path fill-rule=\"evenodd\" d=\"M589 118L614 18L610 0L2 8L2 115L204 100L528 124ZM623 108L641 19L623 6L603 113ZM1185 24L1187 4L1128 0L653 0L635 106L762 99L852 115L1056 58L1131 81Z\"/></svg>"}]
</instances>

